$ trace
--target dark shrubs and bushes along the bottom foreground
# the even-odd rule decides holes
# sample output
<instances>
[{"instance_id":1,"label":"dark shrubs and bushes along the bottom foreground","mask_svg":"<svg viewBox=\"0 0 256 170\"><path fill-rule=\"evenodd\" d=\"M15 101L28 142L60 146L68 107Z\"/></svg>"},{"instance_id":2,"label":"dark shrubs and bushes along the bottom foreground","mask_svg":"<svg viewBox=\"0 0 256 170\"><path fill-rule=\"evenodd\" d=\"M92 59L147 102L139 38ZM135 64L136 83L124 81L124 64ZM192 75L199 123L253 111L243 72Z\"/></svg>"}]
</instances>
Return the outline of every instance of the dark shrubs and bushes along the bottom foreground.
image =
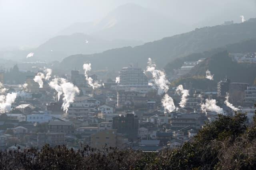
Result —
<instances>
[{"instance_id":1,"label":"dark shrubs and bushes along the bottom foreground","mask_svg":"<svg viewBox=\"0 0 256 170\"><path fill-rule=\"evenodd\" d=\"M219 115L177 149L159 153L88 146L78 151L44 146L40 152L0 152L0 169L255 169L256 118L246 125L246 114Z\"/></svg>"}]
</instances>

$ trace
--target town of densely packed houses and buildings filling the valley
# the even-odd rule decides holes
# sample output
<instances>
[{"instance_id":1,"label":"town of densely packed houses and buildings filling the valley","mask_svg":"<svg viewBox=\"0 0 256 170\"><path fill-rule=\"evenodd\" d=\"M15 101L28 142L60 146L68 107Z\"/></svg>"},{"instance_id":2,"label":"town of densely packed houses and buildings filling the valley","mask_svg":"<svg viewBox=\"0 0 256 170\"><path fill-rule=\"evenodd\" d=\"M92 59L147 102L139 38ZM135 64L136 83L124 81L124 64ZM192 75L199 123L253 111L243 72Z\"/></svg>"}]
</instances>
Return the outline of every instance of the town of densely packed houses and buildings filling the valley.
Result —
<instances>
[{"instance_id":1,"label":"town of densely packed houses and buildings filling the valley","mask_svg":"<svg viewBox=\"0 0 256 170\"><path fill-rule=\"evenodd\" d=\"M156 90L148 89L141 72L138 68L124 68L120 84L106 82L95 90L84 87L83 80L80 80L84 77L73 73L71 80L83 93L74 98L67 113L62 109L62 98L52 98L54 91L47 86L17 98L12 104L12 111L0 114L0 149L41 148L49 144L74 149L89 145L98 149L107 146L158 151L193 140L205 122L218 119L216 112L202 112L200 105L206 98L216 99L224 114L230 116L235 113L224 104L225 96L222 94L230 92L232 96L232 93L244 92L243 98L251 99L246 106L253 106L256 101L256 88L248 85L224 81L218 85L218 92L206 92L194 89L193 84L188 83L184 85L190 90L185 107L169 113L162 107L162 98ZM135 78L126 77L127 74ZM127 84L128 78L135 81L136 76L142 80L137 84ZM178 107L181 96L175 88L168 93ZM250 123L253 107L240 109L248 113Z\"/></svg>"}]
</instances>

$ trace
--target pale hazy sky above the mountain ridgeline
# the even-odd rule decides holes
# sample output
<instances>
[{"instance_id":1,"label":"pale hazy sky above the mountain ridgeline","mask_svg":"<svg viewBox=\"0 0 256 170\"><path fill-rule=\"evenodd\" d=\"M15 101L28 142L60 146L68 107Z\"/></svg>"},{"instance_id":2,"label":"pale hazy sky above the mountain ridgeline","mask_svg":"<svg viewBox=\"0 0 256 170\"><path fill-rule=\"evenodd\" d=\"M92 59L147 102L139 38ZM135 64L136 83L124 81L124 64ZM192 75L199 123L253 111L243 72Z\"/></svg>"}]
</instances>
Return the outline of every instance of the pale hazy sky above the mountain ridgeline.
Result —
<instances>
[{"instance_id":1,"label":"pale hazy sky above the mountain ridgeline","mask_svg":"<svg viewBox=\"0 0 256 170\"><path fill-rule=\"evenodd\" d=\"M35 47L72 23L100 19L126 3L188 25L256 17L256 0L0 0L0 48Z\"/></svg>"}]
</instances>

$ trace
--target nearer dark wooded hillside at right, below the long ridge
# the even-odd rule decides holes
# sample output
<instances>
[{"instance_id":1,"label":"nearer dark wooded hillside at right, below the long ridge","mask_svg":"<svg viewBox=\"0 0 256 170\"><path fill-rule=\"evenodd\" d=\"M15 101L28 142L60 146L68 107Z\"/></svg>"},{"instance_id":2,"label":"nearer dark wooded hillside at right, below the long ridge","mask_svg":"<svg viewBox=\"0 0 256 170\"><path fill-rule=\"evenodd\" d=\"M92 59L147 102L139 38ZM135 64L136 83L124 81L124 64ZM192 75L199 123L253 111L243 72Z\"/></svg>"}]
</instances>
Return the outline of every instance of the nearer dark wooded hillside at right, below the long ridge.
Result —
<instances>
[{"instance_id":1,"label":"nearer dark wooded hillside at right, below the long ridge","mask_svg":"<svg viewBox=\"0 0 256 170\"><path fill-rule=\"evenodd\" d=\"M230 53L244 53L256 51L256 39L242 41L240 43L226 45L223 48L204 51L203 53L194 53L187 57L175 59L169 63L165 70L172 73L173 69L177 69L184 61L196 61L200 58L206 58L202 63L196 65L189 74L186 74L174 82L172 86L192 82L194 87L202 90L216 89L216 84L223 80L226 76L232 82L245 82L256 84L256 76L252 72L256 72L255 63L237 63L232 61ZM205 78L206 70L210 70L214 74L214 80Z\"/></svg>"}]
</instances>

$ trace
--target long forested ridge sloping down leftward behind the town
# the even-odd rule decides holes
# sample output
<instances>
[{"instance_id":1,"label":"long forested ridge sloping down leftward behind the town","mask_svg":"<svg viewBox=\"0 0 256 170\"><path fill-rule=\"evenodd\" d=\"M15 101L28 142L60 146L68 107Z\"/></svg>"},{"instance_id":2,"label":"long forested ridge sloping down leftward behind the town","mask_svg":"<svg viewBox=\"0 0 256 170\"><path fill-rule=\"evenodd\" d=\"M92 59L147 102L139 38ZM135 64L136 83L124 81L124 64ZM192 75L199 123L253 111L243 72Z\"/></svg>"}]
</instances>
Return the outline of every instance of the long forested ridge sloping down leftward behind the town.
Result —
<instances>
[{"instance_id":1,"label":"long forested ridge sloping down leftward behind the town","mask_svg":"<svg viewBox=\"0 0 256 170\"><path fill-rule=\"evenodd\" d=\"M70 70L74 67L82 70L82 64L90 61L94 70L120 70L133 63L145 68L150 57L158 67L164 67L169 61L177 57L184 57L192 53L223 47L246 39L256 38L256 19L232 25L217 25L195 29L188 33L166 37L158 41L145 43L136 47L111 49L103 53L92 55L72 55L65 58L60 69ZM101 62L98 62L101 61Z\"/></svg>"}]
</instances>

